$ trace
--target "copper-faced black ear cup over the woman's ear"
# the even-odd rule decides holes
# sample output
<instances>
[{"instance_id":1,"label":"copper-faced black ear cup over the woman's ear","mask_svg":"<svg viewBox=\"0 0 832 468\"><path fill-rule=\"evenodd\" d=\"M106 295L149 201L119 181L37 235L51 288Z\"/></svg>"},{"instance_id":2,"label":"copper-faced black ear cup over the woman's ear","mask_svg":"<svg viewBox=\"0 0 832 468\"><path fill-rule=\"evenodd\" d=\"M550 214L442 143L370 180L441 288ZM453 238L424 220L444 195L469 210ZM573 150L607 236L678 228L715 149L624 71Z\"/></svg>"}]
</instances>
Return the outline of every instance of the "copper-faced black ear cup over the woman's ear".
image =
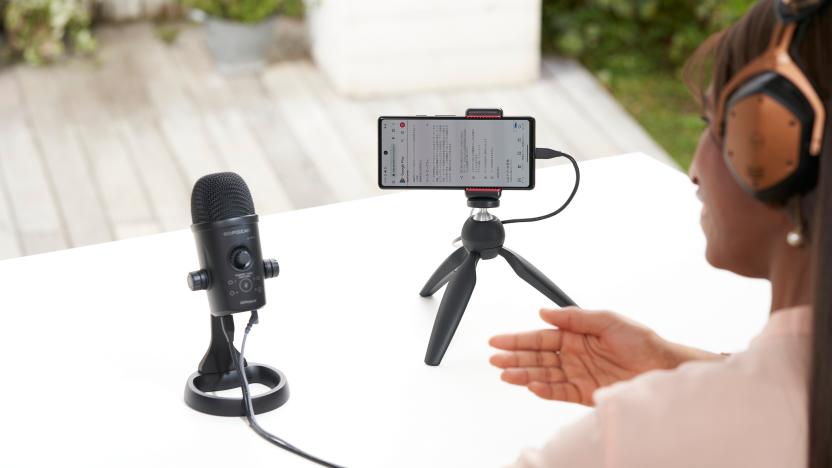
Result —
<instances>
[{"instance_id":1,"label":"copper-faced black ear cup over the woman's ear","mask_svg":"<svg viewBox=\"0 0 832 468\"><path fill-rule=\"evenodd\" d=\"M726 104L725 163L754 197L784 204L817 181L818 158L809 154L813 122L811 105L788 79L762 73Z\"/></svg>"}]
</instances>

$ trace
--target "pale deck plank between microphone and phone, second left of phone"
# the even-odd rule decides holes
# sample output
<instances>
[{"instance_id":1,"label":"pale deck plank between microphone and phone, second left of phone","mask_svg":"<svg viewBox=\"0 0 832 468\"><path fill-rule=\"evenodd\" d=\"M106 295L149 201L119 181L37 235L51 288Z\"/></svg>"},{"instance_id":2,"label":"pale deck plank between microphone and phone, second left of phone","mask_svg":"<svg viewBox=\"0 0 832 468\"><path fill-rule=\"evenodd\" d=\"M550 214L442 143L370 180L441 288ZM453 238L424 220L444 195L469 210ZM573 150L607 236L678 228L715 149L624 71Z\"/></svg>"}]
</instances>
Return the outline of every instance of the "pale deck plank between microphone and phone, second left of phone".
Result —
<instances>
[{"instance_id":1,"label":"pale deck plank between microphone and phone, second left of phone","mask_svg":"<svg viewBox=\"0 0 832 468\"><path fill-rule=\"evenodd\" d=\"M283 115L271 104L260 79L241 75L230 77L228 84L245 109L246 121L286 187L292 205L307 208L337 201L309 155L289 131Z\"/></svg>"}]
</instances>

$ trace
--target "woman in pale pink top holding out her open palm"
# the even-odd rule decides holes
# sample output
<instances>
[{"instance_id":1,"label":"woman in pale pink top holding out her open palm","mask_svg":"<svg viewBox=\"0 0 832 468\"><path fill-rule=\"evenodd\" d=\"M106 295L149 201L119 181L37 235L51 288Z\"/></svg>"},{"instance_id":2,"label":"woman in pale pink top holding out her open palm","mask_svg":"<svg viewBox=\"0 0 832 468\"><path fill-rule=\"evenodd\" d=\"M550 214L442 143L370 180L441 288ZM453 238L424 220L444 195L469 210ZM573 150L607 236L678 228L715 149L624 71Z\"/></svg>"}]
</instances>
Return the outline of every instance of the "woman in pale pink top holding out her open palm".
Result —
<instances>
[{"instance_id":1,"label":"woman in pale pink top holding out her open palm","mask_svg":"<svg viewBox=\"0 0 832 468\"><path fill-rule=\"evenodd\" d=\"M827 115L829 4L803 23L796 54L792 49ZM694 56L686 74L709 71L707 92L698 94L706 120L731 78L767 50L776 24L775 4L760 1ZM702 57L713 59L711 68ZM619 315L576 308L541 311L556 328L491 339L503 350L491 362L504 369L506 382L541 398L596 407L516 466L832 467L829 121L816 187L779 205L740 186L723 158L716 123L699 141L690 177L703 203L709 263L771 282L768 324L747 351L711 354L669 343Z\"/></svg>"}]
</instances>

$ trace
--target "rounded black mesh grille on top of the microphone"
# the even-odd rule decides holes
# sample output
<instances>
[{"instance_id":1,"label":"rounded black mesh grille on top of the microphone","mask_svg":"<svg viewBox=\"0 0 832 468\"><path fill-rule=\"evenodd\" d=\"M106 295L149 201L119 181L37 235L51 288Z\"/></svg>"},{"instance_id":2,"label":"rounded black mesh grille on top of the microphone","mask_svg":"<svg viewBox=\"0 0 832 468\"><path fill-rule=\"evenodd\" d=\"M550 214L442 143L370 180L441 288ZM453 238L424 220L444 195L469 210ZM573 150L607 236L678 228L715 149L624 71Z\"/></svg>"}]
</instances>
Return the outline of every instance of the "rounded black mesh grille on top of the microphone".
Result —
<instances>
[{"instance_id":1,"label":"rounded black mesh grille on top of the microphone","mask_svg":"<svg viewBox=\"0 0 832 468\"><path fill-rule=\"evenodd\" d=\"M191 221L211 223L253 215L254 202L242 177L233 172L218 172L201 177L191 192Z\"/></svg>"}]
</instances>

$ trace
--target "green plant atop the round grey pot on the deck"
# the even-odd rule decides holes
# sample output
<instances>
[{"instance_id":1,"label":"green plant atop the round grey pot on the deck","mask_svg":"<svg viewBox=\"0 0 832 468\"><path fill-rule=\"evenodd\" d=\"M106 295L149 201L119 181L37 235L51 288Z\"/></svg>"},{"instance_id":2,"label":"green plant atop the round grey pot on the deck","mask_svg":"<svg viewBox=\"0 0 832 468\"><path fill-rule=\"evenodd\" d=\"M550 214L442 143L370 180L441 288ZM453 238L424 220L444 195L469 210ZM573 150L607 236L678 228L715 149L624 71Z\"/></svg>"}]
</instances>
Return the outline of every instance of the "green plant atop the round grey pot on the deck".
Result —
<instances>
[{"instance_id":1,"label":"green plant atop the round grey pot on the deck","mask_svg":"<svg viewBox=\"0 0 832 468\"><path fill-rule=\"evenodd\" d=\"M186 7L208 15L241 23L256 23L283 13L303 16L303 0L181 0Z\"/></svg>"}]
</instances>

